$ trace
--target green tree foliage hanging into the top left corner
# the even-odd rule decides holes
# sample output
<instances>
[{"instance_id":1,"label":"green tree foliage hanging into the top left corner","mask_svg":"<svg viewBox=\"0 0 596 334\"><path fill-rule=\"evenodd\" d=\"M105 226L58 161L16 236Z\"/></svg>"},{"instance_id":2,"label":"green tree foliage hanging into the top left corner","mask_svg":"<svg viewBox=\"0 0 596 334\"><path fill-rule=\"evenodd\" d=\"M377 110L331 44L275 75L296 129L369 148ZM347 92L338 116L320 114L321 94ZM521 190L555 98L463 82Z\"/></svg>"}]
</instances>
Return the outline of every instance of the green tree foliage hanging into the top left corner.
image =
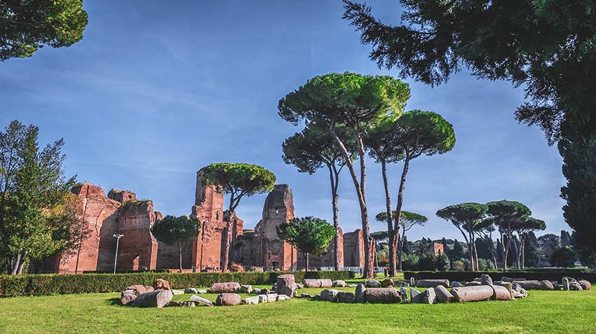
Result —
<instances>
[{"instance_id":1,"label":"green tree foliage hanging into the top left corner","mask_svg":"<svg viewBox=\"0 0 596 334\"><path fill-rule=\"evenodd\" d=\"M0 62L43 46L72 46L85 27L83 0L0 0Z\"/></svg>"}]
</instances>

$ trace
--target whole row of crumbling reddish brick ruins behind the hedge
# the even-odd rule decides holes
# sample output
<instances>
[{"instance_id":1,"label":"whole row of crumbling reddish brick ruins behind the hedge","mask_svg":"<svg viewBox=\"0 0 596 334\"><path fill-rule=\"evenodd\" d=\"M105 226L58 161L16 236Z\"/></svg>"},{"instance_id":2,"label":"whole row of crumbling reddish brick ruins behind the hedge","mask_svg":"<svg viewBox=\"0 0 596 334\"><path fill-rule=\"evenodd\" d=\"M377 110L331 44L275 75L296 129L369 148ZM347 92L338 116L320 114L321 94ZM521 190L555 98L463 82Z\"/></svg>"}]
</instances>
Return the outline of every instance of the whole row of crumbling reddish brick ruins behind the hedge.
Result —
<instances>
[{"instance_id":1,"label":"whole row of crumbling reddish brick ruins behind the hedge","mask_svg":"<svg viewBox=\"0 0 596 334\"><path fill-rule=\"evenodd\" d=\"M154 211L151 200L137 200L128 190L112 189L107 195L100 186L81 183L72 190L81 199L80 218L90 230L81 248L70 256L57 256L45 261L43 272L72 274L111 272L118 244L118 270L156 270L178 267L178 247L158 242L151 235L151 226L162 215ZM198 237L182 245L182 267L190 270L213 270L222 267L226 237L224 195L205 184L203 170L196 176L195 203L192 217L201 221ZM278 237L277 227L294 218L292 190L287 184L276 185L266 197L262 219L255 230L244 230L244 222L232 216L231 260L248 267L267 270L297 270L304 267L304 257ZM362 230L339 235L340 265L364 265ZM343 262L343 263L342 263ZM333 243L323 256L311 256L313 267L334 265Z\"/></svg>"}]
</instances>

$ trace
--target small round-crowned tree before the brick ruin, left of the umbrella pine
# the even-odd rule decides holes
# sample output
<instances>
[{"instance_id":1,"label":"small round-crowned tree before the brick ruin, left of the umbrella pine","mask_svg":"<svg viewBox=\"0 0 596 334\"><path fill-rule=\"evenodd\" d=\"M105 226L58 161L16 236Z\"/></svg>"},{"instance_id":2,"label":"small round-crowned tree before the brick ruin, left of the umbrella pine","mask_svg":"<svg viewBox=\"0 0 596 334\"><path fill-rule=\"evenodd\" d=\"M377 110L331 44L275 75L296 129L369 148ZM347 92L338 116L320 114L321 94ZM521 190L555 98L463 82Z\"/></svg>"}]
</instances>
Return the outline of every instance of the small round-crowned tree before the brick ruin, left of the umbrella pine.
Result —
<instances>
[{"instance_id":1,"label":"small round-crowned tree before the brick ruin, left of the umbrella pine","mask_svg":"<svg viewBox=\"0 0 596 334\"><path fill-rule=\"evenodd\" d=\"M197 218L187 216L165 216L161 221L156 221L151 227L151 234L164 244L178 246L179 269L182 272L182 243L194 239L198 235L201 223Z\"/></svg>"}]
</instances>

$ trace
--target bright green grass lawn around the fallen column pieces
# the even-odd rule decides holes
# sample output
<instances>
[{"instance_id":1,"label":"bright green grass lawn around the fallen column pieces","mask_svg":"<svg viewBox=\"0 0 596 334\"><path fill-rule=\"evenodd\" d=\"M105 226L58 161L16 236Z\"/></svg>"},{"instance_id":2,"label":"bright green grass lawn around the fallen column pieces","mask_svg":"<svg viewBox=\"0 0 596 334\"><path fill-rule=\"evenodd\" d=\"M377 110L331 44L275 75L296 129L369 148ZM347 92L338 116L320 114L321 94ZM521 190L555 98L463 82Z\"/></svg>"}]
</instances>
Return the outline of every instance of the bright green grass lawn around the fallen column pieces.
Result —
<instances>
[{"instance_id":1,"label":"bright green grass lawn around the fallen column pieces","mask_svg":"<svg viewBox=\"0 0 596 334\"><path fill-rule=\"evenodd\" d=\"M189 296L175 295L175 300ZM0 333L596 333L594 290L530 291L522 300L439 305L293 298L234 307L141 309L121 307L119 297L93 293L0 299Z\"/></svg>"}]
</instances>

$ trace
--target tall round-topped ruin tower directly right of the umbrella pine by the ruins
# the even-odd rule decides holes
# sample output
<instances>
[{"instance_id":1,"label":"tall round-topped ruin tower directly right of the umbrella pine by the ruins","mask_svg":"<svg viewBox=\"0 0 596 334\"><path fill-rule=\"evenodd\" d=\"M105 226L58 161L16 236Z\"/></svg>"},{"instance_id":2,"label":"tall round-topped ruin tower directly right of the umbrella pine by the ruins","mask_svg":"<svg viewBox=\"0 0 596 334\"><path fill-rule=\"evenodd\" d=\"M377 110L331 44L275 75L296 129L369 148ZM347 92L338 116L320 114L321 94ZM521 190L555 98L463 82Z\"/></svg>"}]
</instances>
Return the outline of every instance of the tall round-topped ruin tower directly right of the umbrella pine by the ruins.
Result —
<instances>
[{"instance_id":1,"label":"tall round-topped ruin tower directly right of the umbrella pine by the ruins","mask_svg":"<svg viewBox=\"0 0 596 334\"><path fill-rule=\"evenodd\" d=\"M294 198L287 184L276 184L267 195L263 218L257 224L259 264L292 270L297 264L297 251L277 234L277 227L294 218Z\"/></svg>"}]
</instances>

